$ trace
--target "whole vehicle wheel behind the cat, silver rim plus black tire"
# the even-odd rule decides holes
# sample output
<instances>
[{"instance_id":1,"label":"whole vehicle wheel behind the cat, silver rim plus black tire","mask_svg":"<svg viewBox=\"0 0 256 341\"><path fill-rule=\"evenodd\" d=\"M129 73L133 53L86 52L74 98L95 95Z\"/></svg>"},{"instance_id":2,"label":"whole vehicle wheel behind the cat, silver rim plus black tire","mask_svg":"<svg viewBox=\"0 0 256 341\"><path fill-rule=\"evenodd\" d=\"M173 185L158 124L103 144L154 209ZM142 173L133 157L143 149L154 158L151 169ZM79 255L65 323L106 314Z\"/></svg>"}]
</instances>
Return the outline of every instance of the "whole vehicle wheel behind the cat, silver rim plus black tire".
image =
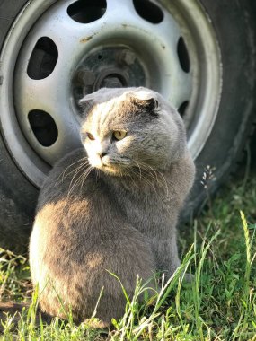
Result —
<instances>
[{"instance_id":1,"label":"whole vehicle wheel behind the cat, silver rim plus black tire","mask_svg":"<svg viewBox=\"0 0 256 341\"><path fill-rule=\"evenodd\" d=\"M252 130L250 0L0 0L1 246L24 249L38 189L80 144L77 101L143 85L179 110L198 178L183 216L214 191Z\"/></svg>"}]
</instances>

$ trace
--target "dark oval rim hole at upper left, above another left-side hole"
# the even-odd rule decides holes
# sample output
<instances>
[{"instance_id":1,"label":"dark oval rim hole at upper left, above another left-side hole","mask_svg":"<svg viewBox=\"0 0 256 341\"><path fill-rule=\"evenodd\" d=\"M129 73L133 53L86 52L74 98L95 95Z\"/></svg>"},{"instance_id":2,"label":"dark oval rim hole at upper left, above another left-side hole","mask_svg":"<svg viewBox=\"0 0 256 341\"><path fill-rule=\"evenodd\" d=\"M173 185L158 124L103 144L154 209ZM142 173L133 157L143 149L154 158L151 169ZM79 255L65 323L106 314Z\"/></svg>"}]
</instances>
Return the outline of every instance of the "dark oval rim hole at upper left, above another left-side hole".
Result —
<instances>
[{"instance_id":1,"label":"dark oval rim hole at upper left, above another left-side hole","mask_svg":"<svg viewBox=\"0 0 256 341\"><path fill-rule=\"evenodd\" d=\"M48 77L57 64L57 57L55 42L48 37L40 38L31 53L27 74L37 80Z\"/></svg>"}]
</instances>

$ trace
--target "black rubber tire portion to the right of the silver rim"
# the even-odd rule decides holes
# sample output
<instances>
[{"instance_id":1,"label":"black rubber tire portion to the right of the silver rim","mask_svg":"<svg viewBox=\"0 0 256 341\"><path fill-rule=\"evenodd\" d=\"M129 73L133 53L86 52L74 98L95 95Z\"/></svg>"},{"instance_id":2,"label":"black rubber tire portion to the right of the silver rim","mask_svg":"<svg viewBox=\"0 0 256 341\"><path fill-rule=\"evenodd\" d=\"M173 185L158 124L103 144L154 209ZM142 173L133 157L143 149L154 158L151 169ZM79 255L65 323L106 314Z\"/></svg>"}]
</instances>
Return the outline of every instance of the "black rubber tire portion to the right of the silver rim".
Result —
<instances>
[{"instance_id":1,"label":"black rubber tire portion to the right of the silver rim","mask_svg":"<svg viewBox=\"0 0 256 341\"><path fill-rule=\"evenodd\" d=\"M198 212L207 195L200 183L209 165L214 193L230 171L235 171L243 148L254 129L256 111L256 4L253 0L200 0L206 9L220 46L223 84L215 125L197 158L197 178L183 218Z\"/></svg>"}]
</instances>

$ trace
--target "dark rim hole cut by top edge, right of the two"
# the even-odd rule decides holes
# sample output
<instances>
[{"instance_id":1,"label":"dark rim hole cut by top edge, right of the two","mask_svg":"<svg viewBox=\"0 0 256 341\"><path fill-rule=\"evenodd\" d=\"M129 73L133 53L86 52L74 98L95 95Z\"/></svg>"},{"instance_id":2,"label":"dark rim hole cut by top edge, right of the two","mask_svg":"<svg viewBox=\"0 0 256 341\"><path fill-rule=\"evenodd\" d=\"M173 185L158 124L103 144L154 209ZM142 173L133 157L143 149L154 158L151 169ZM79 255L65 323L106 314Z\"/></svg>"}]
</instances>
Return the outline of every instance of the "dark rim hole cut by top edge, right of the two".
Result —
<instances>
[{"instance_id":1,"label":"dark rim hole cut by top edge, right of the two","mask_svg":"<svg viewBox=\"0 0 256 341\"><path fill-rule=\"evenodd\" d=\"M138 15L147 22L163 22L163 11L157 4L148 0L133 0L133 4Z\"/></svg>"}]
</instances>

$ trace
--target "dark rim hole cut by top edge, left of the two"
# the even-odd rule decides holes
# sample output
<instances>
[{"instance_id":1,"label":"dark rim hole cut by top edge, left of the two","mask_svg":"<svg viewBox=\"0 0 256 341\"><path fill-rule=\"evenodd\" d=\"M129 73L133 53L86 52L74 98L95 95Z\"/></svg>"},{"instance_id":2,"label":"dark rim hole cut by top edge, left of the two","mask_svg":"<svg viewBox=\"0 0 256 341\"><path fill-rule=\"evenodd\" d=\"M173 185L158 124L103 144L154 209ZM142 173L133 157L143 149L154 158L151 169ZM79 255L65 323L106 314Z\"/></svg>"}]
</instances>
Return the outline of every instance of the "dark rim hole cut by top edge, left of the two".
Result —
<instances>
[{"instance_id":1,"label":"dark rim hole cut by top edge, left of the two","mask_svg":"<svg viewBox=\"0 0 256 341\"><path fill-rule=\"evenodd\" d=\"M102 18L106 9L106 0L79 0L68 6L67 14L75 22L89 23Z\"/></svg>"}]
</instances>

